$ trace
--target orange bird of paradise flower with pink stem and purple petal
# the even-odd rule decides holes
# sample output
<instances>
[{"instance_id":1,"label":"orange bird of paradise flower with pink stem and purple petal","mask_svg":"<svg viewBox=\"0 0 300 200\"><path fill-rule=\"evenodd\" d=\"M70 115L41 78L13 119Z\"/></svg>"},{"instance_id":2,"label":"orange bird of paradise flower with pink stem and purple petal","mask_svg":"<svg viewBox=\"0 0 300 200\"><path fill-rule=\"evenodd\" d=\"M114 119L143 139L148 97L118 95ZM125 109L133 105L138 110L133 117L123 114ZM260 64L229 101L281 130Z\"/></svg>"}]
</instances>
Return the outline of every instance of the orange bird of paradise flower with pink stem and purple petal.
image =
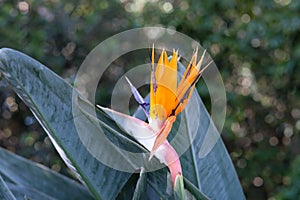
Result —
<instances>
[{"instance_id":1,"label":"orange bird of paradise flower with pink stem and purple petal","mask_svg":"<svg viewBox=\"0 0 300 200\"><path fill-rule=\"evenodd\" d=\"M103 111L115 119L126 132L135 137L150 151L149 161L153 156L168 166L175 192L183 199L184 186L182 169L179 156L169 144L167 137L171 132L176 116L185 108L192 92L203 71L210 65L203 65L205 51L197 62L198 50L191 58L189 65L180 81L178 79L178 51L173 50L168 57L165 50L162 51L157 64L154 58L154 46L151 52L151 76L150 76L150 102L146 102L138 90L128 81L131 91L143 108L148 123L129 115L119 113L109 108L99 106ZM150 105L150 109L147 108Z\"/></svg>"}]
</instances>

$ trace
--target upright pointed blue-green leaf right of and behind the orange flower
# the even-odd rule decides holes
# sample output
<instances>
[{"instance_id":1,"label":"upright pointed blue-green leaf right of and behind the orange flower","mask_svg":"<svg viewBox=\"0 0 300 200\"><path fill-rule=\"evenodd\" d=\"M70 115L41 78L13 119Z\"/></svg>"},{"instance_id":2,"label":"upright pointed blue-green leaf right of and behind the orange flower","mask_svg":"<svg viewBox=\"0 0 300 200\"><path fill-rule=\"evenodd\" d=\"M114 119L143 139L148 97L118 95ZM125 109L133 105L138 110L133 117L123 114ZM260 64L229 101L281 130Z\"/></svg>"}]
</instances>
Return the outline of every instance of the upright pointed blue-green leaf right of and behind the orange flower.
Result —
<instances>
[{"instance_id":1,"label":"upright pointed blue-green leaf right of and behind the orange flower","mask_svg":"<svg viewBox=\"0 0 300 200\"><path fill-rule=\"evenodd\" d=\"M210 141L219 137L219 132L199 95L195 92L193 95L195 96L193 100L196 102L190 102L182 113L181 117L184 120L179 129L182 134L179 141L183 144L192 144L181 157L183 175L211 199L245 199L236 171L221 137L211 152L204 158L200 158L199 152L203 145L209 145ZM199 105L200 109L200 117L198 118L193 115L195 108L191 106L195 104ZM195 124L198 124L197 120L200 126L195 130ZM194 136L191 137L192 135ZM191 140L191 138L195 139ZM206 144L204 144L205 142ZM177 144L175 148L180 146L181 144Z\"/></svg>"}]
</instances>

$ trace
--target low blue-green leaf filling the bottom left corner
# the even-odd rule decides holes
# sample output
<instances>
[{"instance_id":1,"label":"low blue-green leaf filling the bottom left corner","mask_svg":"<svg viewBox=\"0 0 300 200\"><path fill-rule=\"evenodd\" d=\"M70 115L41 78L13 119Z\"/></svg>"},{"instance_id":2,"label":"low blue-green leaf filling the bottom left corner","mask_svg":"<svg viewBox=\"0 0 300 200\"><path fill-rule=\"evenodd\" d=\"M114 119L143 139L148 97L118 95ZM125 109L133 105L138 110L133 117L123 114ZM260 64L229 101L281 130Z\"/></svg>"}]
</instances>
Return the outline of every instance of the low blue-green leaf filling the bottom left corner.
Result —
<instances>
[{"instance_id":1,"label":"low blue-green leaf filling the bottom left corner","mask_svg":"<svg viewBox=\"0 0 300 200\"><path fill-rule=\"evenodd\" d=\"M76 181L2 148L0 148L0 161L0 175L16 197L93 199L87 188Z\"/></svg>"}]
</instances>

